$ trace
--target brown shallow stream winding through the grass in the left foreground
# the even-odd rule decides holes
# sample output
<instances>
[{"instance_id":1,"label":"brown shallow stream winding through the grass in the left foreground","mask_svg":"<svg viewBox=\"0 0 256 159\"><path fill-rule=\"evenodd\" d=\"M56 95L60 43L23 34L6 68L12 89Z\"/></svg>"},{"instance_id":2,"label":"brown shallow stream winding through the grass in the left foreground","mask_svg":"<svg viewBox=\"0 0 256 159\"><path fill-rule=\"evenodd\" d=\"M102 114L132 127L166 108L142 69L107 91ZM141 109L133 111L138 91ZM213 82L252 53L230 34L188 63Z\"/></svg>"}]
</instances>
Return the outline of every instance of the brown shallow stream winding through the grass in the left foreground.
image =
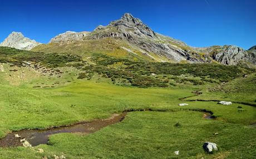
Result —
<instances>
[{"instance_id":1,"label":"brown shallow stream winding through the grass in the left foreground","mask_svg":"<svg viewBox=\"0 0 256 159\"><path fill-rule=\"evenodd\" d=\"M152 110L135 110L135 111L152 111ZM135 111L127 111L127 112L135 112ZM96 131L99 131L101 128L112 125L117 122L121 122L124 120L127 112L123 112L120 115L112 115L110 118L106 120L95 120L91 122L81 122L76 123L71 126L62 126L58 128L51 128L46 130L21 130L21 131L13 131L8 133L6 137L0 140L0 147L17 147L23 146L23 141L26 140L31 146L37 146L40 144L47 144L50 135L57 133L83 133L90 134ZM159 112L167 112L167 111L159 111ZM214 119L212 114L209 112L204 112L203 118L206 119Z\"/></svg>"}]
</instances>

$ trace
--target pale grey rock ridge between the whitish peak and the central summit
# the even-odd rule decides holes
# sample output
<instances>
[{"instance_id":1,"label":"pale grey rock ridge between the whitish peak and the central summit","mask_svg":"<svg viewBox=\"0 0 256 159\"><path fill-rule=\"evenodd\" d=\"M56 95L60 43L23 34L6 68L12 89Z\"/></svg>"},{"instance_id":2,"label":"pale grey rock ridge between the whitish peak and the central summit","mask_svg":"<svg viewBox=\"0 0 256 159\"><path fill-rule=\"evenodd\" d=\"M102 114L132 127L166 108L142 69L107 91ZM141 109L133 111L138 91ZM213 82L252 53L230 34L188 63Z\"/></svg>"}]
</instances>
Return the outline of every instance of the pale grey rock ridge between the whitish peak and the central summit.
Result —
<instances>
[{"instance_id":1,"label":"pale grey rock ridge between the whitish peak and the central summit","mask_svg":"<svg viewBox=\"0 0 256 159\"><path fill-rule=\"evenodd\" d=\"M82 41L90 32L71 32L67 31L65 33L58 34L53 37L49 43L59 43L67 41Z\"/></svg>"}]
</instances>

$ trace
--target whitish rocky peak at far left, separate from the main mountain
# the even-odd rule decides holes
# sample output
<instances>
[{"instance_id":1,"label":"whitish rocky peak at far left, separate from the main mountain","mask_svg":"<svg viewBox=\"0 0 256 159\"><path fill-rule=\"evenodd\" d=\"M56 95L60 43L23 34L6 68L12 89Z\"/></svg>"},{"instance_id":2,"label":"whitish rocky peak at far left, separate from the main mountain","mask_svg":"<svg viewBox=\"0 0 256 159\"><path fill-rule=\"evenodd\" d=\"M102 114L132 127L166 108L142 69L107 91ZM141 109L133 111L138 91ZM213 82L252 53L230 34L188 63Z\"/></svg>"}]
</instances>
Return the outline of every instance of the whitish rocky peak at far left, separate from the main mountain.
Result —
<instances>
[{"instance_id":1,"label":"whitish rocky peak at far left, separate from the main mountain","mask_svg":"<svg viewBox=\"0 0 256 159\"><path fill-rule=\"evenodd\" d=\"M24 37L22 33L12 32L9 36L4 39L0 46L13 47L17 49L31 50L32 48L38 46L41 43Z\"/></svg>"}]
</instances>

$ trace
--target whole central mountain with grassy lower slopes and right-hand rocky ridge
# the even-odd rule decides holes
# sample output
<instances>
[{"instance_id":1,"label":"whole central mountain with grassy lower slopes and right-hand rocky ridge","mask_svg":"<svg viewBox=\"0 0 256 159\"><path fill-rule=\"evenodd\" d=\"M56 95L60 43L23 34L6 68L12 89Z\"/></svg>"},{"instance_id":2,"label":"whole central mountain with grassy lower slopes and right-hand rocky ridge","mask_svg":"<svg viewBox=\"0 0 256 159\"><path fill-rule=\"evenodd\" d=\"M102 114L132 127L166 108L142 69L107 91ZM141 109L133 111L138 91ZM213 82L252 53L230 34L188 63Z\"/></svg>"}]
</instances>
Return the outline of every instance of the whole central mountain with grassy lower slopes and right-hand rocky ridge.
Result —
<instances>
[{"instance_id":1,"label":"whole central mountain with grassy lower slopes and right-hand rocky ridge","mask_svg":"<svg viewBox=\"0 0 256 159\"><path fill-rule=\"evenodd\" d=\"M106 53L129 59L142 58L155 62L218 62L234 65L240 62L256 64L256 53L237 46L190 47L184 42L152 31L139 18L125 13L107 26L92 32L66 32L49 44L33 49L42 52L72 52L81 56Z\"/></svg>"}]
</instances>

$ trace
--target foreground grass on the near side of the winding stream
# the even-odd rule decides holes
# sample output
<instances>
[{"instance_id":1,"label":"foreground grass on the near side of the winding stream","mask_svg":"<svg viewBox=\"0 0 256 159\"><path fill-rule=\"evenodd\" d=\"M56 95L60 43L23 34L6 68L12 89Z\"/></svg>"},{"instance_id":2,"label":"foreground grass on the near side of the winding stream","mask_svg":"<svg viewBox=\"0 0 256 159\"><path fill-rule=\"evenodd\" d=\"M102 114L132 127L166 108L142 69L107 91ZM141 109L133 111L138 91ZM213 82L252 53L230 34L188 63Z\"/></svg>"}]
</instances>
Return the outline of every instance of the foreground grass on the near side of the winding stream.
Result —
<instances>
[{"instance_id":1,"label":"foreground grass on the near side of the winding stream","mask_svg":"<svg viewBox=\"0 0 256 159\"><path fill-rule=\"evenodd\" d=\"M176 122L181 126L175 127ZM35 147L44 153L8 148L2 149L0 157L253 158L255 135L253 127L205 120L200 112L130 112L124 121L90 135L53 135L50 145ZM217 143L219 152L206 154L202 148L206 141ZM174 155L178 150L180 155Z\"/></svg>"}]
</instances>

